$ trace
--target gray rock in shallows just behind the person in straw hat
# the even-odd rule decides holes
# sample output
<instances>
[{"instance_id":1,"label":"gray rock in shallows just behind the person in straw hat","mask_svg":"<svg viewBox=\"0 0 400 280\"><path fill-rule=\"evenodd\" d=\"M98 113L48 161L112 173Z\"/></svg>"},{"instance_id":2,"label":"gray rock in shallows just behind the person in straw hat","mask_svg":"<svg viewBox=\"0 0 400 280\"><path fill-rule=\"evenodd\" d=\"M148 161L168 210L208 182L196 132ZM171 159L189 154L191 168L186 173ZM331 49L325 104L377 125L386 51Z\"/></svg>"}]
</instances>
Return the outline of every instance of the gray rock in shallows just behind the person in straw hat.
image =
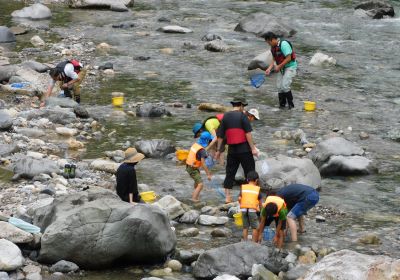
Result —
<instances>
[{"instance_id":1,"label":"gray rock in shallows just behind the person in straw hat","mask_svg":"<svg viewBox=\"0 0 400 280\"><path fill-rule=\"evenodd\" d=\"M135 143L135 148L149 158L162 158L175 152L172 142L164 139L141 140Z\"/></svg>"}]
</instances>

